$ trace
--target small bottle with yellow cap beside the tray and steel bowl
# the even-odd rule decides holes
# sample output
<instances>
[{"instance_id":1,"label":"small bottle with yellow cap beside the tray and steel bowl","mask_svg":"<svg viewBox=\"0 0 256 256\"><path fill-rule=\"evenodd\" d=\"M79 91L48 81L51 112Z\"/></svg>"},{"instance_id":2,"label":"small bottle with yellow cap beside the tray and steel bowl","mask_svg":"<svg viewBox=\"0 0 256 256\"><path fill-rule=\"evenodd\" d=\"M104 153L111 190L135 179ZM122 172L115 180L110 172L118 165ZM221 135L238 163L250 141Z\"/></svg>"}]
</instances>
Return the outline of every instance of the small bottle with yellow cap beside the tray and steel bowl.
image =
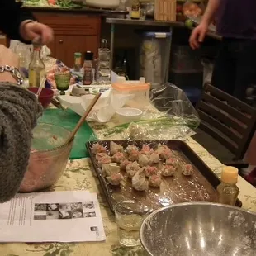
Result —
<instances>
[{"instance_id":1,"label":"small bottle with yellow cap beside the tray and steel bowl","mask_svg":"<svg viewBox=\"0 0 256 256\"><path fill-rule=\"evenodd\" d=\"M221 173L221 183L217 187L218 202L225 205L235 206L239 195L239 188L236 186L238 180L238 169L226 166Z\"/></svg>"}]
</instances>

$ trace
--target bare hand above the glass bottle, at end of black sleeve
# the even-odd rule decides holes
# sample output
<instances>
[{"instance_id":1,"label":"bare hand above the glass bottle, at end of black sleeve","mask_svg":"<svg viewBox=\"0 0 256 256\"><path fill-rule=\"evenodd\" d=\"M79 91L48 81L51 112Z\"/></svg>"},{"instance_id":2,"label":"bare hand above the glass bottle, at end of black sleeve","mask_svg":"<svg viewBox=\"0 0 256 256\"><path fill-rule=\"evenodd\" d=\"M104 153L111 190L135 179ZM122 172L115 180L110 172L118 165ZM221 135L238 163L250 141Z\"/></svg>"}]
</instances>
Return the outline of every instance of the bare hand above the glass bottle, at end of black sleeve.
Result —
<instances>
[{"instance_id":1,"label":"bare hand above the glass bottle, at end of black sleeve","mask_svg":"<svg viewBox=\"0 0 256 256\"><path fill-rule=\"evenodd\" d=\"M54 37L54 32L49 26L36 21L23 21L20 31L23 39L33 41L40 38L40 43L43 45L48 44Z\"/></svg>"}]
</instances>

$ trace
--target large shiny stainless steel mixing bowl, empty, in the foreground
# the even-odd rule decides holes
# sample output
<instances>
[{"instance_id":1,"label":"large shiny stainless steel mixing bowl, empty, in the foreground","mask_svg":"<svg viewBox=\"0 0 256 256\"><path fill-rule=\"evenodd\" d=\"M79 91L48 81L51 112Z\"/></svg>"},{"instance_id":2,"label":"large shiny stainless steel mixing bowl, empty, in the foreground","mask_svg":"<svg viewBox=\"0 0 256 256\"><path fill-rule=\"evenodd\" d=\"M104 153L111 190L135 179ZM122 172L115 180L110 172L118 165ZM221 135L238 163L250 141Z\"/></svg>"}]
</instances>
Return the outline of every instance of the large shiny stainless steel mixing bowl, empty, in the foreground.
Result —
<instances>
[{"instance_id":1,"label":"large shiny stainless steel mixing bowl, empty, in the foreground","mask_svg":"<svg viewBox=\"0 0 256 256\"><path fill-rule=\"evenodd\" d=\"M140 229L151 256L256 255L256 214L215 203L183 203L154 211Z\"/></svg>"}]
</instances>

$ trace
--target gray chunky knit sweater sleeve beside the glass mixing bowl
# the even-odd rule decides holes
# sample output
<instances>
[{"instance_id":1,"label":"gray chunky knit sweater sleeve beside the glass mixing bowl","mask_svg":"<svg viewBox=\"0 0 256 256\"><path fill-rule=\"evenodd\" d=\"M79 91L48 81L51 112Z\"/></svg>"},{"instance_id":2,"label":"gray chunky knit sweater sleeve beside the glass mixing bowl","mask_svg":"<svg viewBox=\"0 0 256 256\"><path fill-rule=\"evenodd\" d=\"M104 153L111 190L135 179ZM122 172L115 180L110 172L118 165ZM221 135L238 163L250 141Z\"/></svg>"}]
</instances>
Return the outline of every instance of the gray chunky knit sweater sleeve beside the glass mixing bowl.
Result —
<instances>
[{"instance_id":1,"label":"gray chunky knit sweater sleeve beside the glass mixing bowl","mask_svg":"<svg viewBox=\"0 0 256 256\"><path fill-rule=\"evenodd\" d=\"M16 195L26 172L32 130L42 113L36 96L0 83L0 202Z\"/></svg>"}]
</instances>

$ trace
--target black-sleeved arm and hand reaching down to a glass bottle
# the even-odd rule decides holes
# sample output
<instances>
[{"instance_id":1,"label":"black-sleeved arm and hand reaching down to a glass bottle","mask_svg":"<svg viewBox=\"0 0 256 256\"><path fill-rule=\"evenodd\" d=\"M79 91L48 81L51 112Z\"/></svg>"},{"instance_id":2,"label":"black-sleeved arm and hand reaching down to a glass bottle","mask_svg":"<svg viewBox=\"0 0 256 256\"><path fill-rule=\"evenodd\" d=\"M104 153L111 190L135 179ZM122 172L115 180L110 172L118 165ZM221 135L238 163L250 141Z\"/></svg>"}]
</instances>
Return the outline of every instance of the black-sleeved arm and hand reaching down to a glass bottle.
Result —
<instances>
[{"instance_id":1,"label":"black-sleeved arm and hand reaching down to a glass bottle","mask_svg":"<svg viewBox=\"0 0 256 256\"><path fill-rule=\"evenodd\" d=\"M0 30L10 39L26 44L40 38L45 45L54 35L49 26L37 22L31 12L15 0L0 0Z\"/></svg>"}]
</instances>

